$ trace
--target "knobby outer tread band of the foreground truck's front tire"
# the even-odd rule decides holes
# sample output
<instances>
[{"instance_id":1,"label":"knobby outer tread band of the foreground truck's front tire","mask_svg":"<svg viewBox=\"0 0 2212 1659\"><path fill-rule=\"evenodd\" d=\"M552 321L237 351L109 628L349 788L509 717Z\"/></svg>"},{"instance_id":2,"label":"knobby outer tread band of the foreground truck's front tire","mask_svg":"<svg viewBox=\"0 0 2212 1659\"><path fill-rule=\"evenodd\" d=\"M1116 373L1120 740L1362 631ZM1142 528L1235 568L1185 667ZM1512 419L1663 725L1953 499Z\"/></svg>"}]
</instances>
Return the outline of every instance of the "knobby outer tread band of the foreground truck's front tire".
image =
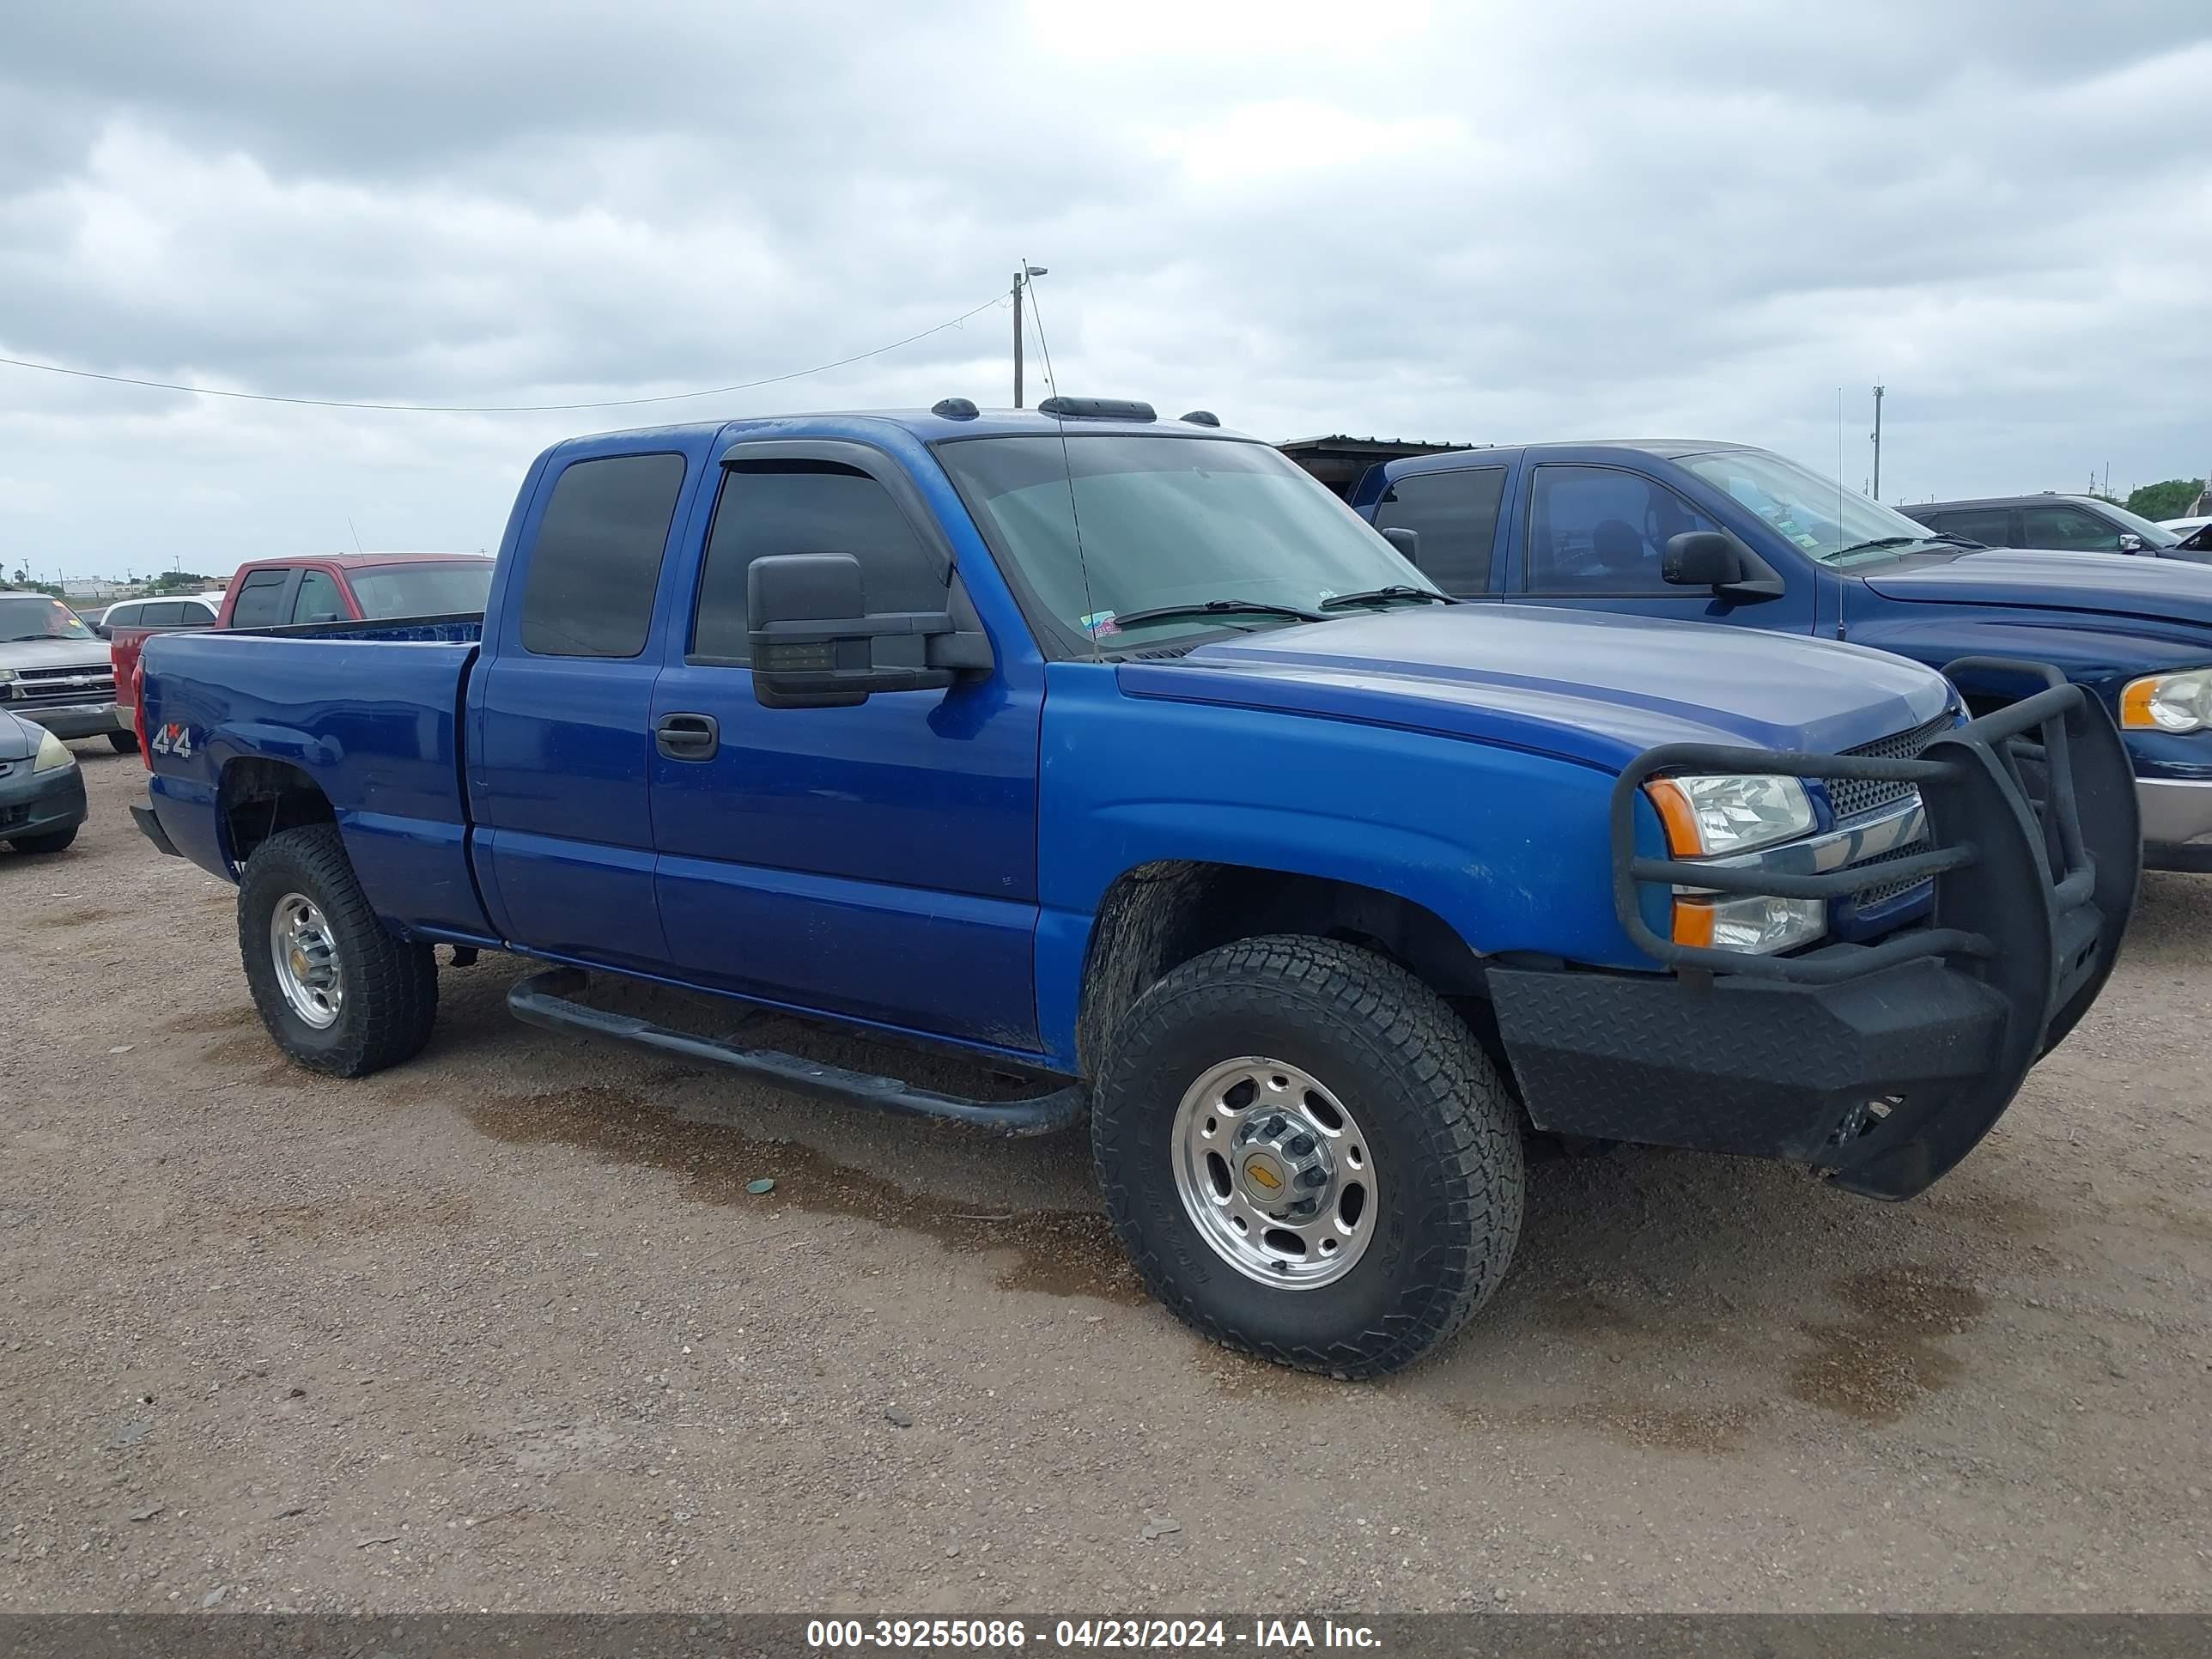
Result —
<instances>
[{"instance_id":1,"label":"knobby outer tread band of the foreground truck's front tire","mask_svg":"<svg viewBox=\"0 0 2212 1659\"><path fill-rule=\"evenodd\" d=\"M1294 998L1301 1013L1363 1040L1405 1077L1422 1113L1422 1157L1453 1194L1442 1214L1416 1219L1429 1239L1418 1259L1420 1292L1356 1338L1329 1347L1259 1340L1203 1314L1133 1225L1124 1183L1106 1179L1104 1148L1119 1130L1110 1110L1115 1079L1141 1064L1164 1015L1203 1018L1210 1000L1259 987ZM1369 1378L1398 1371L1451 1338L1491 1298L1520 1241L1524 1157L1520 1113L1451 1006L1385 956L1329 938L1267 936L1223 945L1183 962L1146 991L1108 1040L1099 1066L1099 1106L1091 1117L1106 1208L1152 1294L1179 1318L1221 1343L1301 1371Z\"/></svg>"}]
</instances>

